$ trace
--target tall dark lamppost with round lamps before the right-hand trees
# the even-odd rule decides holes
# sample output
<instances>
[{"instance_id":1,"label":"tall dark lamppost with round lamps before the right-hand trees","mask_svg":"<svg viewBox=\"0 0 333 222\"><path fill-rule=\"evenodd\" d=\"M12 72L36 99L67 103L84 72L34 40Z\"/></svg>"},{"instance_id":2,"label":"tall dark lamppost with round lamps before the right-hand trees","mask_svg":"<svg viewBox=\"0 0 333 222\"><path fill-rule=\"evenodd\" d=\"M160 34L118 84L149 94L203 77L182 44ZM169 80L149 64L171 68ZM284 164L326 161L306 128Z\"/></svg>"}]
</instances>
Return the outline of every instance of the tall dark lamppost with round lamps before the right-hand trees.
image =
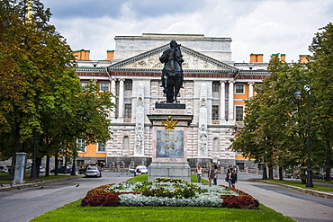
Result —
<instances>
[{"instance_id":1,"label":"tall dark lamppost with round lamps before the right-hand trees","mask_svg":"<svg viewBox=\"0 0 333 222\"><path fill-rule=\"evenodd\" d=\"M307 133L307 138L308 138L308 170L307 170L307 180L306 180L306 187L313 187L312 183L312 170L311 170L311 146L310 146L310 85L305 81L305 80L300 80L297 82L297 88L300 83L305 83L304 85L304 90L308 92L308 133ZM294 93L294 96L296 99L301 99L302 98L302 92L297 91Z\"/></svg>"}]
</instances>

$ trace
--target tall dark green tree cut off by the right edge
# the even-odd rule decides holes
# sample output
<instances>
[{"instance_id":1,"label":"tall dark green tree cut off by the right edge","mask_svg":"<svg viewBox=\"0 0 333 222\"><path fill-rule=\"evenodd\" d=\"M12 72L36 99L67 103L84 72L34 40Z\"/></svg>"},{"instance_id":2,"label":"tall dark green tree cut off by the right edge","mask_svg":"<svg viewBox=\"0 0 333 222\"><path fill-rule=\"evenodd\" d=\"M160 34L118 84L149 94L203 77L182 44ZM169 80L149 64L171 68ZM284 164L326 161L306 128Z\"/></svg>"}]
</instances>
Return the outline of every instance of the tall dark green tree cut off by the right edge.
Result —
<instances>
[{"instance_id":1,"label":"tall dark green tree cut off by the right edge","mask_svg":"<svg viewBox=\"0 0 333 222\"><path fill-rule=\"evenodd\" d=\"M330 22L315 34L310 51L313 57L310 63L312 81L311 92L316 93L315 131L318 133L319 150L314 160L323 163L326 180L330 181L333 147L333 24ZM312 96L312 95L311 95ZM313 96L312 96L313 97ZM320 158L323 157L324 159Z\"/></svg>"}]
</instances>

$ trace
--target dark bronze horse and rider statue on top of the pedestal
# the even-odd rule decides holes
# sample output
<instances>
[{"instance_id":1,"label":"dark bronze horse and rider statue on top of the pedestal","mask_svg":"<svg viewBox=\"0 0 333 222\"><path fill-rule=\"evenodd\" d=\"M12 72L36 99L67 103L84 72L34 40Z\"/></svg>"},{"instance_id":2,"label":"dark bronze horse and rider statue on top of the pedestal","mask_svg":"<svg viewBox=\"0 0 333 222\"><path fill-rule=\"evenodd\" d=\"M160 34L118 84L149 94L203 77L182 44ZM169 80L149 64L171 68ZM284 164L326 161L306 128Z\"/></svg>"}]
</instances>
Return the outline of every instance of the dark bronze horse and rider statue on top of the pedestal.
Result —
<instances>
[{"instance_id":1,"label":"dark bronze horse and rider statue on top of the pedestal","mask_svg":"<svg viewBox=\"0 0 333 222\"><path fill-rule=\"evenodd\" d=\"M163 93L166 93L166 102L177 102L177 94L183 87L184 75L182 63L183 55L180 51L180 45L175 40L170 42L170 49L166 49L159 58L164 63L162 69Z\"/></svg>"}]
</instances>

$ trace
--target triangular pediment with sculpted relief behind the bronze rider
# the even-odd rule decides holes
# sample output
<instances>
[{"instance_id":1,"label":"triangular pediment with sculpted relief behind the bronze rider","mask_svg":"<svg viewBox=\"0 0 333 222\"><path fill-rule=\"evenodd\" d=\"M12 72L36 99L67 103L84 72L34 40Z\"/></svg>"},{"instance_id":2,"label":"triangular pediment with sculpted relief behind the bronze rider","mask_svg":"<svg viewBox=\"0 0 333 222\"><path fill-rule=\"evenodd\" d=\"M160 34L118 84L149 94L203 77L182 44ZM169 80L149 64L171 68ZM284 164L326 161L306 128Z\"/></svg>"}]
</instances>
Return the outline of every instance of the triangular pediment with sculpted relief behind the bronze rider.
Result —
<instances>
[{"instance_id":1,"label":"triangular pediment with sculpted relief behind the bronze rider","mask_svg":"<svg viewBox=\"0 0 333 222\"><path fill-rule=\"evenodd\" d=\"M157 49L152 49L138 56L124 59L120 62L113 64L108 67L110 71L117 71L121 69L135 69L135 70L161 70L163 64L159 61L159 57L162 53L169 48L169 45L164 45ZM202 53L199 53L193 49L186 48L184 46L180 47L184 63L183 70L212 70L212 71L229 71L236 72L238 69L236 67L231 67L228 64L220 62L214 58L210 58Z\"/></svg>"}]
</instances>

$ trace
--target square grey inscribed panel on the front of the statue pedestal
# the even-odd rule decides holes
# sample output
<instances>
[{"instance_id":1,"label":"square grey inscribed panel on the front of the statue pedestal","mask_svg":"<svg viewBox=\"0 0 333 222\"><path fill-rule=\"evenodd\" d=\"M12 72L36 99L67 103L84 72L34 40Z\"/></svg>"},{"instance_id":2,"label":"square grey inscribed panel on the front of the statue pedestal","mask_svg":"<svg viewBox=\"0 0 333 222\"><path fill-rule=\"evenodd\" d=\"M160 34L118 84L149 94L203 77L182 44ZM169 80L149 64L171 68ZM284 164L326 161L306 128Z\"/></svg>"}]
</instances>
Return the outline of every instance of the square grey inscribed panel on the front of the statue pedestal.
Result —
<instances>
[{"instance_id":1,"label":"square grey inscribed panel on the front of the statue pedestal","mask_svg":"<svg viewBox=\"0 0 333 222\"><path fill-rule=\"evenodd\" d=\"M157 158L184 157L184 131L157 130Z\"/></svg>"}]
</instances>

